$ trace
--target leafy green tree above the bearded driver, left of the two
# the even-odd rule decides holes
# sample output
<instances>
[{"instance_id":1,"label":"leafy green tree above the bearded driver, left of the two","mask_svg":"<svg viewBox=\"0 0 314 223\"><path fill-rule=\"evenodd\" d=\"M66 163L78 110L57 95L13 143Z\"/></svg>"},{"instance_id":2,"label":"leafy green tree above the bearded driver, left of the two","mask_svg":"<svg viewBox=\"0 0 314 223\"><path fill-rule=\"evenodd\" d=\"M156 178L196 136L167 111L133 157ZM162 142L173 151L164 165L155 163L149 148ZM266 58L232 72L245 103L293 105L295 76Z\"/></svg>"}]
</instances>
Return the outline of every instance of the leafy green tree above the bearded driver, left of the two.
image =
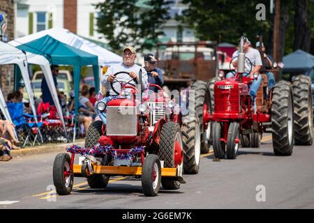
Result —
<instances>
[{"instance_id":1,"label":"leafy green tree above the bearded driver, left of the two","mask_svg":"<svg viewBox=\"0 0 314 223\"><path fill-rule=\"evenodd\" d=\"M124 45L151 49L163 35L160 26L169 18L167 5L167 1L158 0L106 0L98 3L98 32L103 33L116 51Z\"/></svg>"}]
</instances>

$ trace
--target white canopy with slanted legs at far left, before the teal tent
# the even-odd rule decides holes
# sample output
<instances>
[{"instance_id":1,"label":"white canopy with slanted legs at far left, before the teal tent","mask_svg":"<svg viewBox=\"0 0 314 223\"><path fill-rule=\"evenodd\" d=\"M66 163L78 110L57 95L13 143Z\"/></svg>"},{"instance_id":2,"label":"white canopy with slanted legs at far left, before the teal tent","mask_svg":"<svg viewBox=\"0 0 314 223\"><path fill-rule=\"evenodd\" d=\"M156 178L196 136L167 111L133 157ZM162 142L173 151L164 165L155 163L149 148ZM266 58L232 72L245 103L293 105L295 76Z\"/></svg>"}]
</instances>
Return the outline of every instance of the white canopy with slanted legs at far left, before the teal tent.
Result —
<instances>
[{"instance_id":1,"label":"white canopy with slanted legs at far left, before the teal tent","mask_svg":"<svg viewBox=\"0 0 314 223\"><path fill-rule=\"evenodd\" d=\"M56 105L57 112L63 124L63 129L66 132L66 125L63 120L63 114L62 114L61 106L59 103L56 86L54 85L54 80L52 79L52 73L50 70L49 61L47 61L47 59L45 59L44 56L31 54L29 52L24 54L24 52L22 52L20 49L17 49L11 45L8 45L2 42L0 42L0 49L1 49L0 50L0 65L17 64L17 66L20 68L20 71L22 73L22 78L24 79L25 88L27 89L27 94L29 95L29 102L31 105L31 109L32 109L33 115L35 116L36 122L38 122L38 119L36 117L35 102L33 100L33 91L31 90L31 81L29 79L29 72L27 70L27 67L29 63L40 66L40 68L43 70L43 73L45 75L45 79L47 80L48 88L50 92L52 93L52 99L54 100L54 104ZM3 98L3 95L2 95L2 98ZM1 95L0 95L0 100L1 100L1 104L3 105L3 107L1 105L1 110L6 111L8 113L8 109L6 108L6 102L4 98L1 99ZM6 112L3 112L3 114Z\"/></svg>"}]
</instances>

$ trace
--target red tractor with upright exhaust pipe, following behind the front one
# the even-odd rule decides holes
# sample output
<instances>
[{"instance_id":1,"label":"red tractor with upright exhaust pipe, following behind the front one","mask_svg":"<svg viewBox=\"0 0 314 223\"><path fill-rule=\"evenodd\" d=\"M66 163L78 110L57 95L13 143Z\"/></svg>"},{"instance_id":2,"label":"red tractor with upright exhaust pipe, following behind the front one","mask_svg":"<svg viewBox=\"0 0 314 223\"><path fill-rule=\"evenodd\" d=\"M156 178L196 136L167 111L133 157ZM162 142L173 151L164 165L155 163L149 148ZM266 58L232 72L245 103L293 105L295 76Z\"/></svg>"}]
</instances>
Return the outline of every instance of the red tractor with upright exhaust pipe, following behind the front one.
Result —
<instances>
[{"instance_id":1,"label":"red tractor with upright exhaust pipe, following behind the front one","mask_svg":"<svg viewBox=\"0 0 314 223\"><path fill-rule=\"evenodd\" d=\"M257 111L249 94L253 79L242 77L245 55L239 55L235 77L214 78L207 84L209 109L202 113L203 122L211 122L214 155L220 159L235 159L242 147L259 147L264 132L272 133L275 155L291 155L293 145L313 143L313 106L311 79L299 75L278 82L267 92L267 75L257 91ZM242 67L240 65L242 63ZM255 78L258 74L255 74ZM269 128L271 128L269 130ZM295 133L294 133L295 132Z\"/></svg>"}]
</instances>

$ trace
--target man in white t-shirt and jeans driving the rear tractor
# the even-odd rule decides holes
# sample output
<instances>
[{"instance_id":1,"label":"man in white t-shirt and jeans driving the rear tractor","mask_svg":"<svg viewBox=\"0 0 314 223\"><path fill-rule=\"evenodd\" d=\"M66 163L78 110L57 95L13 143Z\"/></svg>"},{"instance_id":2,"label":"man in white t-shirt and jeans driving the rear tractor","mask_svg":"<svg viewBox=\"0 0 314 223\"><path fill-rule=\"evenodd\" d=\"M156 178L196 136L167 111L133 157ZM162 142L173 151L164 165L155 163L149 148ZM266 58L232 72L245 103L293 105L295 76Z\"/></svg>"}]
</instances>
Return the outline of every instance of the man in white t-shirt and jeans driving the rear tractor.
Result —
<instances>
[{"instance_id":1,"label":"man in white t-shirt and jeans driving the rear tractor","mask_svg":"<svg viewBox=\"0 0 314 223\"><path fill-rule=\"evenodd\" d=\"M260 52L258 52L257 49L254 49L251 45L251 42L248 40L248 38L244 37L244 53L246 54L246 58L248 58L251 63L252 63L252 69L251 69L251 64L250 61L246 59L246 64L245 64L245 72L243 74L244 77L251 77L253 79L253 74L254 73L259 73L260 69L262 68L262 59L260 56ZM239 56L239 50L235 51L232 54L232 58L235 58ZM232 65L234 68L237 69L237 59L234 59L232 62ZM251 70L251 72L250 72ZM226 78L234 77L235 73L234 72L228 72L226 75ZM252 99L255 99L257 90L260 87L260 84L262 83L262 77L260 75L257 76L257 79L254 79L251 87L250 87L250 95Z\"/></svg>"}]
</instances>

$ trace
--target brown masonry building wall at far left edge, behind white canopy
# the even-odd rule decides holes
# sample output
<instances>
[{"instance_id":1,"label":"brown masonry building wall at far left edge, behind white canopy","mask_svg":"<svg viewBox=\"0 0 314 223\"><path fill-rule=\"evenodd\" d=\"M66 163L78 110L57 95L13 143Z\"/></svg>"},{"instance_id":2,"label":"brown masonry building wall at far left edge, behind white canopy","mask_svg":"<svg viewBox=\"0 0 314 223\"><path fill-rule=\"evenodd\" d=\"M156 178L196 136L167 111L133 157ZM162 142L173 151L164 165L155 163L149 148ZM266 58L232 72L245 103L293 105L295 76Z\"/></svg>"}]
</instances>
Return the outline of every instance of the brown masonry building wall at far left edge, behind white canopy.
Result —
<instances>
[{"instance_id":1,"label":"brown masonry building wall at far left edge, behind white canopy","mask_svg":"<svg viewBox=\"0 0 314 223\"><path fill-rule=\"evenodd\" d=\"M8 40L14 39L14 10L15 3L14 0L0 0L0 13L6 20L7 29L5 31L8 36ZM2 38L1 38L2 39ZM10 91L13 91L14 86L14 70L13 66L0 66L0 87L3 95L6 97Z\"/></svg>"}]
</instances>

